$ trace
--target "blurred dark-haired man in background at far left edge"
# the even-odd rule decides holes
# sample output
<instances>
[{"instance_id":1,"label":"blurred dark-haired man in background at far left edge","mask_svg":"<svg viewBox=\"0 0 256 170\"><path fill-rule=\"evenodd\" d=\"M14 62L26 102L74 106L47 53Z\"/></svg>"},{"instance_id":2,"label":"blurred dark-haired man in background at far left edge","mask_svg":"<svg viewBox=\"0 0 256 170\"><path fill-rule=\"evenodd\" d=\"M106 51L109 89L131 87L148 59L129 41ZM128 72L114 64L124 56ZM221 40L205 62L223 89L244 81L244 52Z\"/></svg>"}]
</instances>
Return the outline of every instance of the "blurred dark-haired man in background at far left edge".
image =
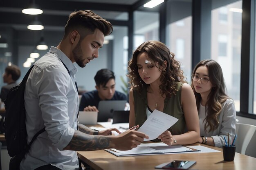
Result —
<instances>
[{"instance_id":1,"label":"blurred dark-haired man in background at far left edge","mask_svg":"<svg viewBox=\"0 0 256 170\"><path fill-rule=\"evenodd\" d=\"M11 65L7 66L5 68L5 72L3 74L3 80L4 83L7 83L7 85L2 86L0 98L1 101L4 102L6 99L7 94L9 93L10 89L17 85L16 81L20 78L20 68L18 68L17 65Z\"/></svg>"}]
</instances>

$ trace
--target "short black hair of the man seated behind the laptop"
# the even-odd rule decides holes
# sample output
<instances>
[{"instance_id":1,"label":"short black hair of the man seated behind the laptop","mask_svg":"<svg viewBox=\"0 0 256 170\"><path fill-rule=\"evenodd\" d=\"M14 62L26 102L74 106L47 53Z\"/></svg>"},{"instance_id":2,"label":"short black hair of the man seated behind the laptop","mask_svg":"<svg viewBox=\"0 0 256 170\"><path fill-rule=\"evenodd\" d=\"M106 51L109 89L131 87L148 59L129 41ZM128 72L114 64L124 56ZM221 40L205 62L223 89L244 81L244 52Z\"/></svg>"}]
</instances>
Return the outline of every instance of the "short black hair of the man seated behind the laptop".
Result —
<instances>
[{"instance_id":1,"label":"short black hair of the man seated behind the laptop","mask_svg":"<svg viewBox=\"0 0 256 170\"><path fill-rule=\"evenodd\" d=\"M106 86L108 81L112 78L115 80L114 72L106 68L99 70L94 76L95 83L98 87L100 87L100 85L103 87Z\"/></svg>"}]
</instances>

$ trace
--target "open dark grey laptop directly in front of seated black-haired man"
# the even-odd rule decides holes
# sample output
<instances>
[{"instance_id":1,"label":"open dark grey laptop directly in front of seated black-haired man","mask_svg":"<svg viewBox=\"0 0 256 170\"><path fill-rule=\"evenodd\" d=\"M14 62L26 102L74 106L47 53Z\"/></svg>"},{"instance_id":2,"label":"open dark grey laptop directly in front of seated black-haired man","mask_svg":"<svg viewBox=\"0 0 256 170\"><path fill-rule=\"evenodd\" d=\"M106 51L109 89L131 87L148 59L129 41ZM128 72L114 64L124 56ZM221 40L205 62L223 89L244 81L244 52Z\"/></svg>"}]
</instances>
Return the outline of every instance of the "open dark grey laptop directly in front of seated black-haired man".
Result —
<instances>
[{"instance_id":1,"label":"open dark grey laptop directly in front of seated black-haired man","mask_svg":"<svg viewBox=\"0 0 256 170\"><path fill-rule=\"evenodd\" d=\"M101 100L98 106L98 122L107 122L109 118L113 118L115 110L124 110L126 100Z\"/></svg>"}]
</instances>

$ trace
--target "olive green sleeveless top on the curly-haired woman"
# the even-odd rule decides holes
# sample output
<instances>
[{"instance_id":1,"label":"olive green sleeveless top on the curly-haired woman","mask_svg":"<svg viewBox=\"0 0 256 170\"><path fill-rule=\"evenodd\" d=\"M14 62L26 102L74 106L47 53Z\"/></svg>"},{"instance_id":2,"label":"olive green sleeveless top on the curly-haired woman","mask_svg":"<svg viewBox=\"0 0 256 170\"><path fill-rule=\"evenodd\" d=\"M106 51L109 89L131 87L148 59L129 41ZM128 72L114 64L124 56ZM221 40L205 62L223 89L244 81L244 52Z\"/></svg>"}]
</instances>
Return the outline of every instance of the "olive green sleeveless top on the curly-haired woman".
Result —
<instances>
[{"instance_id":1,"label":"olive green sleeveless top on the curly-haired woman","mask_svg":"<svg viewBox=\"0 0 256 170\"><path fill-rule=\"evenodd\" d=\"M168 129L172 135L180 135L186 132L186 122L181 105L181 90L184 83L176 82L176 95L172 95L171 98L166 97L164 100L163 112L178 119L178 121ZM133 88L134 98L134 110L135 110L135 124L142 124L147 119L146 108L148 106L147 91L143 89L142 92L138 92L137 88Z\"/></svg>"}]
</instances>

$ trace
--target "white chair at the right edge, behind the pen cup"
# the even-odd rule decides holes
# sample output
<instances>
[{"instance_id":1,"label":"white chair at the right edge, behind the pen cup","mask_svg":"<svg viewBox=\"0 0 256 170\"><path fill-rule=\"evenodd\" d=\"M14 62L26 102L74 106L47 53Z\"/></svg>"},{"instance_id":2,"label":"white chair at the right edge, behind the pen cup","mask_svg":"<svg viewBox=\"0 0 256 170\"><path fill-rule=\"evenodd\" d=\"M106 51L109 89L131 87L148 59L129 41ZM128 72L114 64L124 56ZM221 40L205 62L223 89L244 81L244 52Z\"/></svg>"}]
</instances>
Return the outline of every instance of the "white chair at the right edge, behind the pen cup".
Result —
<instances>
[{"instance_id":1,"label":"white chair at the right edge, behind the pen cup","mask_svg":"<svg viewBox=\"0 0 256 170\"><path fill-rule=\"evenodd\" d=\"M237 138L235 141L236 152L251 157L256 157L256 126L251 124L236 124Z\"/></svg>"}]
</instances>

